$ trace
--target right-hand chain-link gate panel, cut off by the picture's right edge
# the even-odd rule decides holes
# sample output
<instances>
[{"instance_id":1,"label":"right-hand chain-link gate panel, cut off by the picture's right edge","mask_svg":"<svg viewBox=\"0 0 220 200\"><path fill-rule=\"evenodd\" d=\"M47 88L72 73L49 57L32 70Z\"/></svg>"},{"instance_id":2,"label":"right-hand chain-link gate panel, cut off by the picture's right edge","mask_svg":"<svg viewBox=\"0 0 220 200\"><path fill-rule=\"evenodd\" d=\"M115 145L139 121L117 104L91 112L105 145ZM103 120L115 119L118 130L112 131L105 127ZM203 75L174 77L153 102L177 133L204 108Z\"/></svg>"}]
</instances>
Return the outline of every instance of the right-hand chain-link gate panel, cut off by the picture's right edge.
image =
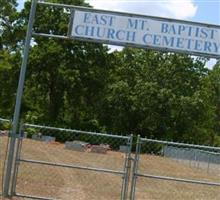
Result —
<instances>
[{"instance_id":1,"label":"right-hand chain-link gate panel, cut off by the picture's right edge","mask_svg":"<svg viewBox=\"0 0 220 200\"><path fill-rule=\"evenodd\" d=\"M197 157L194 161L189 153L218 150L220 148L139 137L132 175L131 199L220 199L220 165L215 161L215 173L208 173L207 168L197 167L198 163L202 165L205 157Z\"/></svg>"}]
</instances>

